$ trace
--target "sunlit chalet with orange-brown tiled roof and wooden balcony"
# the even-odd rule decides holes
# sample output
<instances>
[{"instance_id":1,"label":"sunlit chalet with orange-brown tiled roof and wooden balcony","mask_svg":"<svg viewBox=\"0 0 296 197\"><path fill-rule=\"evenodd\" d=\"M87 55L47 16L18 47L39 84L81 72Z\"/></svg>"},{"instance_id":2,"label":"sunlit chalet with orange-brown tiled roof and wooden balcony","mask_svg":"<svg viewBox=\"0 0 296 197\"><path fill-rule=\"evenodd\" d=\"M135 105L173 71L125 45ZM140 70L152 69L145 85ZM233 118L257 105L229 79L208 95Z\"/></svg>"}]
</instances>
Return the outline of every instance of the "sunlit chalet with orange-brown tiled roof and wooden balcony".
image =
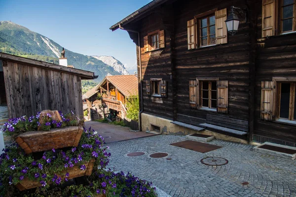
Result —
<instances>
[{"instance_id":1,"label":"sunlit chalet with orange-brown tiled roof and wooden balcony","mask_svg":"<svg viewBox=\"0 0 296 197\"><path fill-rule=\"evenodd\" d=\"M138 95L137 76L117 75L105 77L83 96L87 101L89 118L101 119L112 113L124 119L126 102L133 95Z\"/></svg>"}]
</instances>

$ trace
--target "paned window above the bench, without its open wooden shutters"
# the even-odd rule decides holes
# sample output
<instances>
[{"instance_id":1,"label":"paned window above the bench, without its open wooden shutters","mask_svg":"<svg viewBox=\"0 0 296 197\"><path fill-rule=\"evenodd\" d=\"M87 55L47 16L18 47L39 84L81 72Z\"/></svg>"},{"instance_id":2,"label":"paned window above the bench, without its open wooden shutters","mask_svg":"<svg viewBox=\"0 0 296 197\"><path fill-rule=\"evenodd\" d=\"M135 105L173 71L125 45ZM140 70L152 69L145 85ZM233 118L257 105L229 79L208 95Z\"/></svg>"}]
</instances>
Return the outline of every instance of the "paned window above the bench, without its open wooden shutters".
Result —
<instances>
[{"instance_id":1,"label":"paned window above the bench, without its open wooden shutters","mask_svg":"<svg viewBox=\"0 0 296 197\"><path fill-rule=\"evenodd\" d=\"M217 108L217 81L201 81L201 107Z\"/></svg>"}]
</instances>

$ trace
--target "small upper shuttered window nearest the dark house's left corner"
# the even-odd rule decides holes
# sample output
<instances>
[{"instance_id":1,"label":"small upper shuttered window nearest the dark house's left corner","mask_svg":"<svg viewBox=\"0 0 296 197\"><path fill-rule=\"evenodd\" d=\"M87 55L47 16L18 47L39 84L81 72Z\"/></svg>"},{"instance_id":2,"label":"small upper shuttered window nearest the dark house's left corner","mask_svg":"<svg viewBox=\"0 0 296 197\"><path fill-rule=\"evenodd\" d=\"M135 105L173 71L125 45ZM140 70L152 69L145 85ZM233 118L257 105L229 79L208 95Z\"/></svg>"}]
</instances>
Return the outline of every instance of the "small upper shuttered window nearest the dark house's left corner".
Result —
<instances>
[{"instance_id":1,"label":"small upper shuttered window nearest the dark house's left corner","mask_svg":"<svg viewBox=\"0 0 296 197\"><path fill-rule=\"evenodd\" d=\"M144 37L145 52L165 47L164 30L156 30Z\"/></svg>"}]
</instances>

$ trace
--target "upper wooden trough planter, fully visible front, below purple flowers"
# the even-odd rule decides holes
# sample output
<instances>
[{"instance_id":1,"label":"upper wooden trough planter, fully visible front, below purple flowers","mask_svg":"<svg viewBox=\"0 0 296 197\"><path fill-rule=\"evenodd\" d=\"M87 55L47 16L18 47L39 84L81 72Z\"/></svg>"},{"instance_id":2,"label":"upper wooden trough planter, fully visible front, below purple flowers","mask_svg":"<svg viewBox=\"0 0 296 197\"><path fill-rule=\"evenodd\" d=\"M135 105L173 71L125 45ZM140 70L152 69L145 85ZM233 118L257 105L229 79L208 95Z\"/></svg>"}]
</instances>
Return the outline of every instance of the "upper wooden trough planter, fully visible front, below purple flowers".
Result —
<instances>
[{"instance_id":1,"label":"upper wooden trough planter, fully visible front, below purple flowers","mask_svg":"<svg viewBox=\"0 0 296 197\"><path fill-rule=\"evenodd\" d=\"M30 131L15 137L26 154L61 149L65 147L77 147L83 128L81 126L68 126L51 129L49 131Z\"/></svg>"}]
</instances>

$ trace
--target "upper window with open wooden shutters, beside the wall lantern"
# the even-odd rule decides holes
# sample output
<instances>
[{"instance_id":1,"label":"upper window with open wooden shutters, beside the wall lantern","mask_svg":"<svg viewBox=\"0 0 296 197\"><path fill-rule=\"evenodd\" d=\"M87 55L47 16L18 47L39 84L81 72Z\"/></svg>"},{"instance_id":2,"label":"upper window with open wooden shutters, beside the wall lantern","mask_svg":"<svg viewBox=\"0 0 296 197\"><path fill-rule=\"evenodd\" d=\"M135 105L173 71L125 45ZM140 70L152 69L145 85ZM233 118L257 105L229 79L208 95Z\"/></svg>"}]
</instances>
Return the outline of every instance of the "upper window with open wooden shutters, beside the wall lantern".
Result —
<instances>
[{"instance_id":1,"label":"upper window with open wooden shutters, beside the wall lantern","mask_svg":"<svg viewBox=\"0 0 296 197\"><path fill-rule=\"evenodd\" d=\"M227 9L213 9L187 21L188 50L227 43Z\"/></svg>"}]
</instances>

